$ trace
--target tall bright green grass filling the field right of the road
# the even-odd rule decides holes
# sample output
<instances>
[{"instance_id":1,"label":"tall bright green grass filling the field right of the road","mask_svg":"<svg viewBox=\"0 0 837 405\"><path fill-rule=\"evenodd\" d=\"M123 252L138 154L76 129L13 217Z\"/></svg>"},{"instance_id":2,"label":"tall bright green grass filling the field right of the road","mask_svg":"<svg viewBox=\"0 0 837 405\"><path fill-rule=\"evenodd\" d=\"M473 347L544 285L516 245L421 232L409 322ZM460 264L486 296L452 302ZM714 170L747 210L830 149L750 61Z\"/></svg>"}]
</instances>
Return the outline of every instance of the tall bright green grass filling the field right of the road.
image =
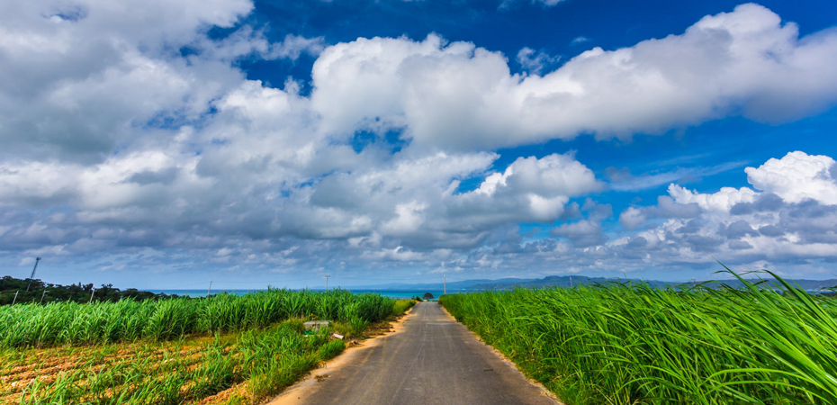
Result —
<instances>
[{"instance_id":1,"label":"tall bright green grass filling the field right of the road","mask_svg":"<svg viewBox=\"0 0 837 405\"><path fill-rule=\"evenodd\" d=\"M570 404L837 403L837 302L781 278L445 295L457 320Z\"/></svg>"}]
</instances>

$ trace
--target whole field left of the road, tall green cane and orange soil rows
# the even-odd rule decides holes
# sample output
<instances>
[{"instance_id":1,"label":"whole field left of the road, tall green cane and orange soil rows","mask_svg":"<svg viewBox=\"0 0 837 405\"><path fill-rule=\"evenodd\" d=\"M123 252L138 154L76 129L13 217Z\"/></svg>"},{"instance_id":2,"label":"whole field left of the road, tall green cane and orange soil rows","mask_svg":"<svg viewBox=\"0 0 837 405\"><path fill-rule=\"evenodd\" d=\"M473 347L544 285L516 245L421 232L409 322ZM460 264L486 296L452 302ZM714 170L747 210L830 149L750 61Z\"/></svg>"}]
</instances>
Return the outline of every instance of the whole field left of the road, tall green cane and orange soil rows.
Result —
<instances>
[{"instance_id":1,"label":"whole field left of the road, tall green cane and orange soil rows","mask_svg":"<svg viewBox=\"0 0 837 405\"><path fill-rule=\"evenodd\" d=\"M0 403L249 404L415 302L271 290L0 308ZM306 320L332 320L306 331Z\"/></svg>"}]
</instances>

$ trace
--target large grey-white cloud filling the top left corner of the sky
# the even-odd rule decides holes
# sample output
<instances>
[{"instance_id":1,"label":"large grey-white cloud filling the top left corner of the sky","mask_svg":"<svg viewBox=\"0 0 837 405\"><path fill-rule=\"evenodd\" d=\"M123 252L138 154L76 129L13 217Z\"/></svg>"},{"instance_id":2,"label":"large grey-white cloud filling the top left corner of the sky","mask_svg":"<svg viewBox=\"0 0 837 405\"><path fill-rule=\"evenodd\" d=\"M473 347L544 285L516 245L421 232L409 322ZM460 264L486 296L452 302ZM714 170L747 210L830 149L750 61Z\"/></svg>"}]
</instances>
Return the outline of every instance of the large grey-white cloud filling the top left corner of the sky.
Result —
<instances>
[{"instance_id":1,"label":"large grey-white cloud filling the top left corner of the sky","mask_svg":"<svg viewBox=\"0 0 837 405\"><path fill-rule=\"evenodd\" d=\"M133 139L165 138L148 123L198 119L242 74L173 49L252 9L246 0L4 4L0 72L15 79L0 85L0 157L91 163Z\"/></svg>"}]
</instances>

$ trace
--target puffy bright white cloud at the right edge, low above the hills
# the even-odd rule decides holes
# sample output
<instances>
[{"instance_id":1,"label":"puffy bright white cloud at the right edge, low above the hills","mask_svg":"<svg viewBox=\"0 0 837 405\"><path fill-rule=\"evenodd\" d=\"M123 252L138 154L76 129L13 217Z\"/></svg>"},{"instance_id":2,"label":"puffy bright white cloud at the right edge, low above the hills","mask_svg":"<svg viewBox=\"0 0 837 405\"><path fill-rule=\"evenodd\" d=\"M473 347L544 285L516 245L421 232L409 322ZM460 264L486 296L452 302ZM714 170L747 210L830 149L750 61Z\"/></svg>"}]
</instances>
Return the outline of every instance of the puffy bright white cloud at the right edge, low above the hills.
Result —
<instances>
[{"instance_id":1,"label":"puffy bright white cloud at the right edge, low above the hills","mask_svg":"<svg viewBox=\"0 0 837 405\"><path fill-rule=\"evenodd\" d=\"M837 252L833 162L795 151L745 168L752 188L698 193L671 184L669 196L660 196L657 205L628 208L619 220L625 229L636 229L647 220L667 218L639 234L655 234L672 256L679 250L682 256L682 246L687 246L693 252L714 252L728 264L830 258Z\"/></svg>"}]
</instances>

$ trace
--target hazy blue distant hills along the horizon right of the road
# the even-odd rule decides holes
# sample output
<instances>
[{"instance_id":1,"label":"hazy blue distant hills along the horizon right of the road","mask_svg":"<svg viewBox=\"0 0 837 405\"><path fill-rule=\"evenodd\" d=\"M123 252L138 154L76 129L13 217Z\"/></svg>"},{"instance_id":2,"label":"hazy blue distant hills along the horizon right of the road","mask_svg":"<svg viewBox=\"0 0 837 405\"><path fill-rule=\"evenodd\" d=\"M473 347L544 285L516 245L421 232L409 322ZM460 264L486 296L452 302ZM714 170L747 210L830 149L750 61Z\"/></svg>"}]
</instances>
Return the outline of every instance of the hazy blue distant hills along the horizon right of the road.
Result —
<instances>
[{"instance_id":1,"label":"hazy blue distant hills along the horizon right of the road","mask_svg":"<svg viewBox=\"0 0 837 405\"><path fill-rule=\"evenodd\" d=\"M761 281L760 279L748 279L752 283ZM768 283L777 284L775 279L765 279ZM791 285L798 285L807 292L821 292L829 288L837 286L837 279L830 280L786 280ZM605 278L605 277L588 277L585 275L548 275L540 279L521 279L521 278L502 278L499 280L464 280L451 282L447 284L448 293L457 292L475 292L483 290L510 290L513 288L546 288L546 287L563 287L569 288L578 285L590 284L610 284L610 283L645 283L651 284L655 287L671 286L677 288L679 286L704 284L710 288L716 288L722 284L729 285L734 288L743 287L743 283L738 280L719 280L719 281L696 281L696 282L663 282L659 280L641 280L641 279L625 279L625 278ZM442 283L427 283L427 284L378 284L368 285L363 287L370 290L391 290L391 291L414 291L414 290L441 290Z\"/></svg>"}]
</instances>

